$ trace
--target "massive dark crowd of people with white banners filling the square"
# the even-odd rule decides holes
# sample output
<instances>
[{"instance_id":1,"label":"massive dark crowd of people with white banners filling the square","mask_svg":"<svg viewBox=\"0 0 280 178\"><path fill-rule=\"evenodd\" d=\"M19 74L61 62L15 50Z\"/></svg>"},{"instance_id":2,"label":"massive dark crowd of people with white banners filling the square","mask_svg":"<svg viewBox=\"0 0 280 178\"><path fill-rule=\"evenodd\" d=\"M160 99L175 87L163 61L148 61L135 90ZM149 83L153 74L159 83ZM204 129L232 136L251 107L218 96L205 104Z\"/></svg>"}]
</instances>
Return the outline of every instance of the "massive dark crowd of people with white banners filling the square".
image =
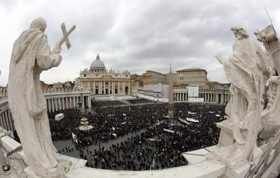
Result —
<instances>
[{"instance_id":1,"label":"massive dark crowd of people with white banners filling the square","mask_svg":"<svg viewBox=\"0 0 280 178\"><path fill-rule=\"evenodd\" d=\"M78 144L75 144L75 150L70 151L76 151L80 158L88 160L89 167L114 170L149 170L151 167L160 169L185 165L187 161L182 153L217 144L215 140L219 139L220 131L215 123L222 121L225 115L224 105L200 103L174 103L171 117L165 117L168 103L93 107L92 110L95 111L94 115L76 109L48 113L53 142L71 140L74 133ZM57 121L55 115L59 113L64 113L65 117ZM79 129L83 117L88 119L92 129ZM187 121L186 118L199 122ZM213 130L212 135L209 128ZM144 131L138 133L141 129ZM128 137L130 132L132 136ZM112 134L124 137L124 141L104 148L102 144L115 139ZM96 145L97 149L88 150L92 145ZM58 151L62 153L68 148Z\"/></svg>"}]
</instances>

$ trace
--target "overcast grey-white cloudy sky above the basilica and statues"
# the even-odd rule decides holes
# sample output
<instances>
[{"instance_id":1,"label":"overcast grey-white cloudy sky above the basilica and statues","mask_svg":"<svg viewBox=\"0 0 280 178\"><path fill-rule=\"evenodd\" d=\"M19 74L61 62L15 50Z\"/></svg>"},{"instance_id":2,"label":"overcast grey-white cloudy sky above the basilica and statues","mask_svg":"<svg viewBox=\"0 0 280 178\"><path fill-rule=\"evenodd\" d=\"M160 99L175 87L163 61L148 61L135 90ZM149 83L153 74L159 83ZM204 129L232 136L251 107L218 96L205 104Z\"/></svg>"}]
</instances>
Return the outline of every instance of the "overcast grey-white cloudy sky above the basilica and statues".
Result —
<instances>
[{"instance_id":1,"label":"overcast grey-white cloudy sky above the basilica and statues","mask_svg":"<svg viewBox=\"0 0 280 178\"><path fill-rule=\"evenodd\" d=\"M232 54L234 26L244 27L263 47L253 31L270 25L264 7L280 33L279 0L0 1L0 84L8 83L14 41L38 16L46 19L45 33L53 47L62 37L62 22L67 30L76 25L69 36L72 47L62 45L61 64L41 74L47 84L73 81L97 53L106 68L116 72L168 73L171 63L173 72L202 68L210 81L225 83L223 67L214 56Z\"/></svg>"}]
</instances>

